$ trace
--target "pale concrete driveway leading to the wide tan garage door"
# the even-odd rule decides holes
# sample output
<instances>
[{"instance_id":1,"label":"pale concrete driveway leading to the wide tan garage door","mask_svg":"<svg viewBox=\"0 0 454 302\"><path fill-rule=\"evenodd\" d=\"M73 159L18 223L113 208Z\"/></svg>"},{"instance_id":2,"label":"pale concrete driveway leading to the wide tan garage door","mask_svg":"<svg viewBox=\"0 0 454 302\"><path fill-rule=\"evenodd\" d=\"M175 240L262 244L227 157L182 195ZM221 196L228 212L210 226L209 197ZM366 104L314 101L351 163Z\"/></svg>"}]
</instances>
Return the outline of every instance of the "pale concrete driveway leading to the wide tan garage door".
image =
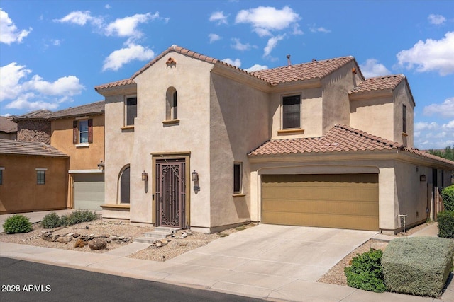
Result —
<instances>
[{"instance_id":1,"label":"pale concrete driveway leading to the wide tan garage door","mask_svg":"<svg viewBox=\"0 0 454 302\"><path fill-rule=\"evenodd\" d=\"M375 234L260 224L168 260L161 272L222 291L273 291L294 281L312 284Z\"/></svg>"}]
</instances>

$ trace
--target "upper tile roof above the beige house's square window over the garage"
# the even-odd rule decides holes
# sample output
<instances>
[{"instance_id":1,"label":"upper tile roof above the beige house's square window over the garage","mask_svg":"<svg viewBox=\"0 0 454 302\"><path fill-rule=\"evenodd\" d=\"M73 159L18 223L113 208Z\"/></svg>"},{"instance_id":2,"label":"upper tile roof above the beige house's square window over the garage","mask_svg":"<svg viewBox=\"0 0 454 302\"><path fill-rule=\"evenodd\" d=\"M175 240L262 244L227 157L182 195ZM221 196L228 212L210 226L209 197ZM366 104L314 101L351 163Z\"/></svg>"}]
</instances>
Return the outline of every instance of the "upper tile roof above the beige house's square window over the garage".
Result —
<instances>
[{"instance_id":1,"label":"upper tile roof above the beige house's square window over the garage","mask_svg":"<svg viewBox=\"0 0 454 302\"><path fill-rule=\"evenodd\" d=\"M328 76L328 74L331 74L333 71L336 71L336 69L341 68L341 66L344 66L353 60L353 57L339 57L335 59L265 69L255 71L252 74L270 81L270 83L274 85L289 81L323 79L323 77Z\"/></svg>"}]
</instances>

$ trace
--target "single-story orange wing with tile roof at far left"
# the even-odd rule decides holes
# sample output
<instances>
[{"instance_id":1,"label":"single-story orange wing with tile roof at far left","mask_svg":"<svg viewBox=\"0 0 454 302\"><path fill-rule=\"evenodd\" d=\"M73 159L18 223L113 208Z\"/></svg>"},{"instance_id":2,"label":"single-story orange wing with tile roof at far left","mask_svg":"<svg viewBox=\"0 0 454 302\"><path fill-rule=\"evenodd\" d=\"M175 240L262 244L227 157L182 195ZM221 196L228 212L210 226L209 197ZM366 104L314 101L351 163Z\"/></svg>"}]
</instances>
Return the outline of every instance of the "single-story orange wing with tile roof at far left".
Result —
<instances>
[{"instance_id":1,"label":"single-story orange wing with tile roof at far left","mask_svg":"<svg viewBox=\"0 0 454 302\"><path fill-rule=\"evenodd\" d=\"M0 139L0 214L67 209L69 165L48 144Z\"/></svg>"}]
</instances>

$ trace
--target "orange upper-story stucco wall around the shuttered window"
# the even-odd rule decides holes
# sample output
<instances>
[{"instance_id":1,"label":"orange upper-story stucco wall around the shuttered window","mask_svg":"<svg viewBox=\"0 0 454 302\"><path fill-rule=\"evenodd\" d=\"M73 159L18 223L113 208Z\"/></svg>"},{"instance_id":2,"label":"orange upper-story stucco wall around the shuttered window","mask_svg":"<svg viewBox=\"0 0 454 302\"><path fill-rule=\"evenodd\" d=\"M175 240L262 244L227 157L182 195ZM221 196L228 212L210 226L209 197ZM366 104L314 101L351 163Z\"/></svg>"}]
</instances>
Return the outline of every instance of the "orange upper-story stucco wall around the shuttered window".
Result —
<instances>
[{"instance_id":1,"label":"orange upper-story stucco wall around the shuttered window","mask_svg":"<svg viewBox=\"0 0 454 302\"><path fill-rule=\"evenodd\" d=\"M88 146L72 144L74 118L52 120L50 144L71 157L70 170L96 170L99 160L104 161L104 115L88 118L93 119L93 143Z\"/></svg>"}]
</instances>

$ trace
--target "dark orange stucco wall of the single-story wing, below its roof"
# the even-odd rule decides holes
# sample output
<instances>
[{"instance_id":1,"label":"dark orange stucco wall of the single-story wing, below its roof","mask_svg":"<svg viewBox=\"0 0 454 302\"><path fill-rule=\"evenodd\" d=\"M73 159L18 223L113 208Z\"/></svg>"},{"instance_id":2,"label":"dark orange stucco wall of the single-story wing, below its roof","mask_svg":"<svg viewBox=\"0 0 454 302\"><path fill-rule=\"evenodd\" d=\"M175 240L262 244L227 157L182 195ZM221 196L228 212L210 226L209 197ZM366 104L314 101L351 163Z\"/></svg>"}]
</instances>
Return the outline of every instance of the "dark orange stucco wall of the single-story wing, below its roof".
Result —
<instances>
[{"instance_id":1,"label":"dark orange stucco wall of the single-story wing, below its roof","mask_svg":"<svg viewBox=\"0 0 454 302\"><path fill-rule=\"evenodd\" d=\"M0 214L66 209L68 165L69 158L0 155ZM48 169L45 185L36 184L35 168Z\"/></svg>"}]
</instances>

